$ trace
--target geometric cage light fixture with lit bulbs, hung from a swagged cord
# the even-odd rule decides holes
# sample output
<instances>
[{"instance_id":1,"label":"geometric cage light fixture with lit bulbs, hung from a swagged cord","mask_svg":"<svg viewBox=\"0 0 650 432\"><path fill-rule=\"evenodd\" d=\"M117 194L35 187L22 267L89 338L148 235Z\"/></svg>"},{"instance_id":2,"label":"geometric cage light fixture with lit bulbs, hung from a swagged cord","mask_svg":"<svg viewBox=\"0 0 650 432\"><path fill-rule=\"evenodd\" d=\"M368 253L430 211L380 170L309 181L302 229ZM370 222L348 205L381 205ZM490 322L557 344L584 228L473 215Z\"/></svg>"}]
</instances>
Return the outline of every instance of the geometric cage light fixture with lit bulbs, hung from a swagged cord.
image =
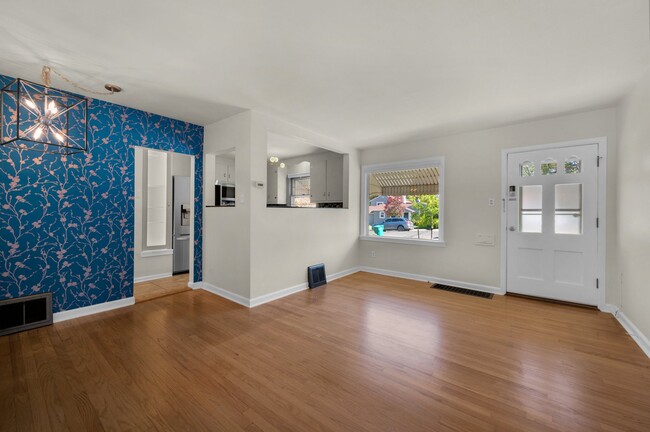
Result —
<instances>
[{"instance_id":1,"label":"geometric cage light fixture with lit bulbs, hung from a swagged cord","mask_svg":"<svg viewBox=\"0 0 650 432\"><path fill-rule=\"evenodd\" d=\"M50 73L86 93L112 95L122 89L106 84L108 93L79 87L54 69L44 66L43 84L21 78L0 90L0 145L45 153L88 151L88 99L50 86Z\"/></svg>"}]
</instances>

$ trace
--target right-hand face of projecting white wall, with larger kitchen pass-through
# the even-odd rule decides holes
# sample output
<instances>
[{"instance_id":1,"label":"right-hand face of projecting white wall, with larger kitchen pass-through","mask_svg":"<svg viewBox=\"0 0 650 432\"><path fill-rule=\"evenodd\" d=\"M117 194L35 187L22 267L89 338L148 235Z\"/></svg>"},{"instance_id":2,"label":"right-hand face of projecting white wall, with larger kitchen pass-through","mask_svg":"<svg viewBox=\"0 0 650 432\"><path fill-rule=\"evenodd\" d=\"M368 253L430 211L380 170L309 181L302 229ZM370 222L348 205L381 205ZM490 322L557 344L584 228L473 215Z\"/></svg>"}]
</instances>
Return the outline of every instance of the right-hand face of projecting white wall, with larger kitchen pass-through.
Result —
<instances>
[{"instance_id":1,"label":"right-hand face of projecting white wall, with larger kitchen pass-through","mask_svg":"<svg viewBox=\"0 0 650 432\"><path fill-rule=\"evenodd\" d=\"M254 112L252 180L266 178L269 132L300 137L314 146L343 153L336 140ZM251 298L307 282L307 266L312 264L325 263L328 274L358 265L360 171L356 151L349 154L349 161L349 182L344 181L343 195L344 202L349 195L351 208L267 208L266 192L251 189Z\"/></svg>"}]
</instances>

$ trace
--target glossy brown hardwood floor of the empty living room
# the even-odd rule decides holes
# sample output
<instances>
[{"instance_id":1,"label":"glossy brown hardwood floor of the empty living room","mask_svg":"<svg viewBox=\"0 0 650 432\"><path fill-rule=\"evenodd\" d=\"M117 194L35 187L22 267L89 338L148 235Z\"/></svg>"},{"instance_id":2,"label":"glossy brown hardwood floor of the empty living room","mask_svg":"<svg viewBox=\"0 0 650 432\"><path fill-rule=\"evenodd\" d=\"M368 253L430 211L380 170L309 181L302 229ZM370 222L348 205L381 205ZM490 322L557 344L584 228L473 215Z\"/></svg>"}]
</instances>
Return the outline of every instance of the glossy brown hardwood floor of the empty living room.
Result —
<instances>
[{"instance_id":1,"label":"glossy brown hardwood floor of the empty living room","mask_svg":"<svg viewBox=\"0 0 650 432\"><path fill-rule=\"evenodd\" d=\"M598 311L357 273L2 337L0 413L2 431L648 431L650 360Z\"/></svg>"}]
</instances>

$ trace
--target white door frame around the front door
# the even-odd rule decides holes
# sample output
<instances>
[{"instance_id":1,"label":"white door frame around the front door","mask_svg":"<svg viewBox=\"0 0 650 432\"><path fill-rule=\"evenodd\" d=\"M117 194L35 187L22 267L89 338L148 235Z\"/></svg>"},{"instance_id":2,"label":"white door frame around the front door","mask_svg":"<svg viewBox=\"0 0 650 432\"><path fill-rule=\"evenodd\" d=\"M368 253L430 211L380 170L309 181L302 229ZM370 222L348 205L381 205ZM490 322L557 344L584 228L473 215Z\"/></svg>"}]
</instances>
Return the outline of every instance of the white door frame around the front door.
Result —
<instances>
[{"instance_id":1,"label":"white door frame around the front door","mask_svg":"<svg viewBox=\"0 0 650 432\"><path fill-rule=\"evenodd\" d=\"M596 231L598 236L598 250L596 257L596 277L598 278L598 309L608 311L607 308L607 137L588 138L573 141L562 141L550 144L540 144L527 147L513 147L501 150L501 289L508 292L508 227L507 209L508 202L508 155L524 153L535 150L546 150L562 147L573 147L580 145L597 144L600 168L598 170L598 217L599 227ZM595 161L594 161L595 163Z\"/></svg>"}]
</instances>

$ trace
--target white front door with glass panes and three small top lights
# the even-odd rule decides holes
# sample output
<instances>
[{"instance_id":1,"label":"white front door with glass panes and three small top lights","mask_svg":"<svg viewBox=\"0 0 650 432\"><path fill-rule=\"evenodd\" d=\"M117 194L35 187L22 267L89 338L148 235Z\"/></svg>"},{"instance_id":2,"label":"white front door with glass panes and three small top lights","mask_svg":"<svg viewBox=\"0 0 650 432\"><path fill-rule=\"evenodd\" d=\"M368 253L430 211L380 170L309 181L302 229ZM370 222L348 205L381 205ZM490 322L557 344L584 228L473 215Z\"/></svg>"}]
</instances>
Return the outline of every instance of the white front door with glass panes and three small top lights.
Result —
<instances>
[{"instance_id":1,"label":"white front door with glass panes and three small top lights","mask_svg":"<svg viewBox=\"0 0 650 432\"><path fill-rule=\"evenodd\" d=\"M598 144L508 154L508 292L598 305Z\"/></svg>"}]
</instances>

